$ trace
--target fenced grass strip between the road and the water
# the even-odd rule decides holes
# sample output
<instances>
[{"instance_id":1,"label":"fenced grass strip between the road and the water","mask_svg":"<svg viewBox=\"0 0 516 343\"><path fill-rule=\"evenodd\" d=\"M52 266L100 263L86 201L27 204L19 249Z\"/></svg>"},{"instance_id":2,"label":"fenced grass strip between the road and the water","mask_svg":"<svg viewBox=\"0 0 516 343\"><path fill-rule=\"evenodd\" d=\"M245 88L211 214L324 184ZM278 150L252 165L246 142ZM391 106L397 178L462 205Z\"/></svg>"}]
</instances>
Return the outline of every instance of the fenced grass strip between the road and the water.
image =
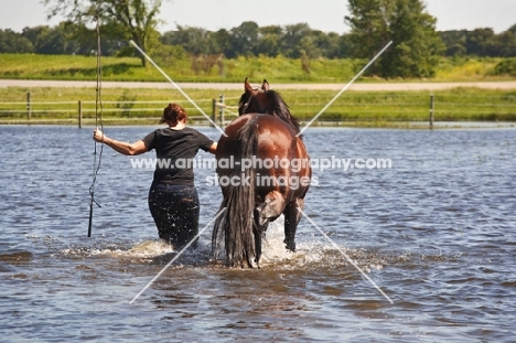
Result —
<instances>
[{"instance_id":1,"label":"fenced grass strip between the road and the water","mask_svg":"<svg viewBox=\"0 0 516 343\"><path fill-rule=\"evenodd\" d=\"M432 92L437 121L516 120L516 90L487 90L455 88ZM212 115L213 98L217 89L189 89L189 96L207 115ZM334 96L332 90L284 89L281 95L292 114L300 120L310 120ZM226 90L225 119L236 116L240 90ZM22 88L0 88L0 124L76 124L78 101L85 122L95 118L95 89L92 88L33 88L31 89L31 118L28 119L26 92ZM105 124L155 124L162 108L170 101L186 107L192 122L206 122L202 112L175 89L105 88L101 93ZM319 121L361 124L361 126L389 126L399 122L428 121L430 92L352 92L341 95Z\"/></svg>"}]
</instances>

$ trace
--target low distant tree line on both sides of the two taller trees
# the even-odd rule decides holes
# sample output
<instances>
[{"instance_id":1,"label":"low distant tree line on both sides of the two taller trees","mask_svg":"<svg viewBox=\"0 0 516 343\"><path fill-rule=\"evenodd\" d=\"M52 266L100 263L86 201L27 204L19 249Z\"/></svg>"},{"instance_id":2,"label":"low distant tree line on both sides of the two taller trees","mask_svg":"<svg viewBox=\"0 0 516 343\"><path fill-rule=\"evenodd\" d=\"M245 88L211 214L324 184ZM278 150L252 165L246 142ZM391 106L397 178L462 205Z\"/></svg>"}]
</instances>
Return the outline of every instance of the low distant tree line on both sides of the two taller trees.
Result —
<instances>
[{"instance_id":1,"label":"low distant tree line on both sides of the two taller trees","mask_svg":"<svg viewBox=\"0 0 516 343\"><path fill-rule=\"evenodd\" d=\"M484 28L440 31L438 34L444 43L443 56L516 57L516 24L501 33ZM244 22L232 30L216 32L178 26L176 31L157 32L157 36L160 44L153 50L172 45L180 46L186 54L223 54L226 58L259 55L347 58L359 55L352 47L352 34L325 33L312 30L305 23L260 28L255 22ZM71 22L52 28L25 28L22 32L0 30L0 53L95 55L96 51L96 31ZM136 55L128 41L116 37L103 39L101 53L106 56Z\"/></svg>"}]
</instances>

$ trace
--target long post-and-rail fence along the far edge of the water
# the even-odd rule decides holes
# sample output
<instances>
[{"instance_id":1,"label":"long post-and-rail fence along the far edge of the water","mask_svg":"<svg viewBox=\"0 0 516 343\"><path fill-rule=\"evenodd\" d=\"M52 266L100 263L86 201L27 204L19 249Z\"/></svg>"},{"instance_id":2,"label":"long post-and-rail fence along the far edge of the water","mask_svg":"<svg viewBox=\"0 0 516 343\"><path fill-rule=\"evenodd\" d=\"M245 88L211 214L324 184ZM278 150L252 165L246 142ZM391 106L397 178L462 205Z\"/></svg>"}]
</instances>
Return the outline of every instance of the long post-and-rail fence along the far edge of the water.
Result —
<instances>
[{"instance_id":1,"label":"long post-and-rail fence along the far edge of the water","mask_svg":"<svg viewBox=\"0 0 516 343\"><path fill-rule=\"evenodd\" d=\"M327 103L326 98L311 96L310 93L290 97L291 110L300 121L312 118ZM224 127L238 116L238 97L225 98L221 95L216 99L195 99L202 111L185 99L175 103L186 109L192 125L209 125L206 115ZM166 100L103 101L98 106L87 100L32 101L28 92L26 101L0 101L0 124L76 124L82 127L95 125L99 116L106 124L157 124L165 104ZM341 97L315 125L340 125L354 120L428 121L430 127L437 120L516 121L516 96L361 93Z\"/></svg>"}]
</instances>

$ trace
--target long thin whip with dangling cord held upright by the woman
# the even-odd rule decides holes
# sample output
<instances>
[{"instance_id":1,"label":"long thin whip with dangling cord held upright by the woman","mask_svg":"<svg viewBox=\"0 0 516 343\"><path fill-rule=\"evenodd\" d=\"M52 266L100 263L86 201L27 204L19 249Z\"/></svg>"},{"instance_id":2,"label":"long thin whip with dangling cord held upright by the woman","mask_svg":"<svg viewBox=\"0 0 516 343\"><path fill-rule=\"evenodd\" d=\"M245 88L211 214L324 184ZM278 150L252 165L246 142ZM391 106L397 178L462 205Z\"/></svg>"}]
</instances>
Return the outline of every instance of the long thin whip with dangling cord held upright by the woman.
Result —
<instances>
[{"instance_id":1,"label":"long thin whip with dangling cord held upright by the woman","mask_svg":"<svg viewBox=\"0 0 516 343\"><path fill-rule=\"evenodd\" d=\"M100 50L100 18L95 15L95 21L97 22L97 93L95 97L95 128L98 128L98 125L100 125L100 131L104 132L104 124L103 124L103 100L100 97L100 90L101 90L101 82L103 82L103 74L101 74L101 63L100 63L100 56L101 56L101 50ZM103 136L104 139L104 136ZM89 196L90 196L90 202L89 202L89 223L88 223L88 237L92 237L92 223L93 223L93 207L94 204L96 204L98 207L100 205L95 201L95 183L97 182L97 174L98 170L100 169L100 162L103 159L103 151L104 151L104 141L100 142L100 151L98 153L98 160L97 160L97 142L95 141L95 148L94 148L94 168L93 168L93 181L92 185L89 186Z\"/></svg>"}]
</instances>

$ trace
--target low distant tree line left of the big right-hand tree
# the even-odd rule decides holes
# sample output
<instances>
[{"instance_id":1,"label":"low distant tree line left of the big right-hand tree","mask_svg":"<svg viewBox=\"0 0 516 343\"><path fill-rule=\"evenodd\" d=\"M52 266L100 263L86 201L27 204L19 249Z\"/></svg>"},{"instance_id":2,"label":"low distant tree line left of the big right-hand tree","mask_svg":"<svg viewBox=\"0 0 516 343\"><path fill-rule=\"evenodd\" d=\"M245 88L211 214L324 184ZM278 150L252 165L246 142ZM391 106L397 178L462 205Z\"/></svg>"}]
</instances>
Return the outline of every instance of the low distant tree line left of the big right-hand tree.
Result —
<instances>
[{"instance_id":1,"label":"low distant tree line left of the big right-hand tree","mask_svg":"<svg viewBox=\"0 0 516 343\"><path fill-rule=\"evenodd\" d=\"M125 35L116 36L100 28L101 52L108 56L136 55ZM308 24L262 26L244 22L230 30L207 31L202 28L178 26L175 31L153 32L151 51L175 46L191 55L278 56L300 58L351 57L347 35L312 30ZM22 32L0 30L0 53L92 55L97 51L97 33L84 24L62 22L25 28Z\"/></svg>"}]
</instances>

